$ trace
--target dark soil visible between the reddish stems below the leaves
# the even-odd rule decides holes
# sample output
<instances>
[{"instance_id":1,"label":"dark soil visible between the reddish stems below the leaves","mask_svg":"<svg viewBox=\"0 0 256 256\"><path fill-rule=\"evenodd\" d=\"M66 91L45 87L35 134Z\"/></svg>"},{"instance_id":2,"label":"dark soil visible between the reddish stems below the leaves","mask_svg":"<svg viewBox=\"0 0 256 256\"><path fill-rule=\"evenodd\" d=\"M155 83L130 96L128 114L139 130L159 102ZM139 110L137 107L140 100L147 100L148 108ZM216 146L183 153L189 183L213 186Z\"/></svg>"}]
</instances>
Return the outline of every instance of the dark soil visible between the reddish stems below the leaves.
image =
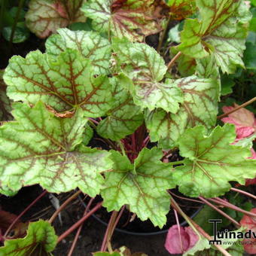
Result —
<instances>
[{"instance_id":1,"label":"dark soil visible between the reddish stems below the leaves","mask_svg":"<svg viewBox=\"0 0 256 256\"><path fill-rule=\"evenodd\" d=\"M23 187L19 191L19 193L14 197L0 197L0 206L2 210L14 213L19 215L26 206L32 203L38 195L40 195L42 189L40 186L35 185L32 187ZM69 193L56 195L59 198L60 203L63 203L67 197L69 197ZM183 200L183 203L186 202ZM185 206L184 209L189 205ZM198 207L198 206L196 206ZM197 209L196 209L197 210ZM42 218L44 220L50 218L55 209L50 203L48 195L41 198L41 200L33 206L29 212L23 215L22 221L36 221L38 218ZM195 209L190 209L191 212L195 211ZM172 211L170 211L172 212ZM55 227L57 235L60 235L64 231L68 230L72 224L75 224L84 213L84 206L81 204L81 200L75 200L71 205L69 205L65 210L62 211L62 222L61 226L59 223L59 219L56 218L53 221L53 226ZM98 217L103 218L106 222L108 222L108 213L105 209L101 209L96 213ZM127 218L129 218L128 211L123 215L123 218L120 220L120 226L123 226L124 222L127 222ZM174 219L172 215L169 215L169 224L174 224ZM141 230L141 228L143 229ZM146 227L146 229L145 229ZM132 224L126 225L123 227L126 230L147 232L147 231L156 231L150 221L147 221L146 224L142 224L141 221L135 219ZM102 239L105 234L105 225L99 223L95 218L90 217L85 223L84 227L81 231L81 235L78 240L78 244L76 245L75 251L73 253L74 256L91 256L91 252L98 251L102 244ZM69 251L70 246L72 245L72 241L74 239L75 232L71 235L67 236L56 248L53 252L55 256L66 255ZM128 235L125 233L115 232L112 237L112 246L113 248L120 248L120 246L126 245L126 247L131 248L133 252L143 251L148 254L148 256L168 256L169 253L164 248L164 242L166 238L166 233L154 236L134 236Z\"/></svg>"}]
</instances>

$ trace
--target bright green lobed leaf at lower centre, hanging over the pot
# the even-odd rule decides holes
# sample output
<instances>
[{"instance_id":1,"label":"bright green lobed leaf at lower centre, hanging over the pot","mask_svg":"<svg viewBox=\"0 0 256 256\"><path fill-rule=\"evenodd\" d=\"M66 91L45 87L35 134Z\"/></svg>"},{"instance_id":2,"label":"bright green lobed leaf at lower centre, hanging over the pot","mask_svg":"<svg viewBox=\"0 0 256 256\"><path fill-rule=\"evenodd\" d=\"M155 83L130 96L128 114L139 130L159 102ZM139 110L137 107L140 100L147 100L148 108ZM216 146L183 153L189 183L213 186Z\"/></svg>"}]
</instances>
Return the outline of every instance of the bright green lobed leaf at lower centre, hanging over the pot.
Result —
<instances>
[{"instance_id":1,"label":"bright green lobed leaf at lower centre, hanging over the pot","mask_svg":"<svg viewBox=\"0 0 256 256\"><path fill-rule=\"evenodd\" d=\"M169 163L160 162L163 153L158 148L144 148L135 163L126 156L111 151L113 167L105 173L105 187L101 191L103 206L118 211L128 204L130 211L155 226L166 224L170 200L167 189L175 187Z\"/></svg>"}]
</instances>

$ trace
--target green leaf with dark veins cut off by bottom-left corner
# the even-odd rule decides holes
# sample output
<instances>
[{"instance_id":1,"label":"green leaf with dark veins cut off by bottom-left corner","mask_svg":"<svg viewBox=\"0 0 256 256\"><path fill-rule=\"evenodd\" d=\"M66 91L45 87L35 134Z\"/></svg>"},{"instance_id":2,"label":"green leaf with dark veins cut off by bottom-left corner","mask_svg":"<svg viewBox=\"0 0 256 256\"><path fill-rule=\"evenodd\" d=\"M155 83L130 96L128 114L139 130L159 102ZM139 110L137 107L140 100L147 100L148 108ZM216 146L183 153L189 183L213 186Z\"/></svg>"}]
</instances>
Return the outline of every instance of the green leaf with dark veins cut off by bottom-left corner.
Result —
<instances>
[{"instance_id":1,"label":"green leaf with dark veins cut off by bottom-left corner","mask_svg":"<svg viewBox=\"0 0 256 256\"><path fill-rule=\"evenodd\" d=\"M5 245L0 247L0 255L52 256L51 251L55 248L56 243L57 236L53 227L49 222L40 220L29 224L27 235L24 238L6 240Z\"/></svg>"}]
</instances>

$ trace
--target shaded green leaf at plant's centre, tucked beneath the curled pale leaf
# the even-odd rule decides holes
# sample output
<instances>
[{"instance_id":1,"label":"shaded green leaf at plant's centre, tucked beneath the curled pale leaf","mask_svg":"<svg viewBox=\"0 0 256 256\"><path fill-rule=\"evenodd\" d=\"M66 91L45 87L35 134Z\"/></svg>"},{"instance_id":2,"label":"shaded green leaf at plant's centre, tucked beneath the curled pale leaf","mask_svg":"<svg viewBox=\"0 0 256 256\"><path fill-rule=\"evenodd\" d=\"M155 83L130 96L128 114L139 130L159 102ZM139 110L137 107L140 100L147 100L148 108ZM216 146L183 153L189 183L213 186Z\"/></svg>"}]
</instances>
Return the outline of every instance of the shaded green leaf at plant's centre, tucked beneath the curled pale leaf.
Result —
<instances>
[{"instance_id":1,"label":"shaded green leaf at plant's centre, tucked beneath the curled pale leaf","mask_svg":"<svg viewBox=\"0 0 256 256\"><path fill-rule=\"evenodd\" d=\"M97 133L114 141L132 134L143 123L144 116L139 106L135 105L132 96L120 86L122 78L111 78L114 105L108 116L99 122Z\"/></svg>"}]
</instances>

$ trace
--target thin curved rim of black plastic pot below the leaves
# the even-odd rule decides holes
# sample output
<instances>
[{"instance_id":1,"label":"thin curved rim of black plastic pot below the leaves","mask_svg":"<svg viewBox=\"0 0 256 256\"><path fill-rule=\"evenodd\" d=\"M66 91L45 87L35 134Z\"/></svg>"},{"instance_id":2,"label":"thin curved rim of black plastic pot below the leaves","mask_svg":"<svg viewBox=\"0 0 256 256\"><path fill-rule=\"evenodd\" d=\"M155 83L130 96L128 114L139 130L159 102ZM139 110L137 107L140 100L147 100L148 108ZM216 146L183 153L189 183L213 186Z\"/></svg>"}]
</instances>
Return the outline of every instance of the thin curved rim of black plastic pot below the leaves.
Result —
<instances>
[{"instance_id":1,"label":"thin curved rim of black plastic pot below the leaves","mask_svg":"<svg viewBox=\"0 0 256 256\"><path fill-rule=\"evenodd\" d=\"M83 204L84 208L86 208L86 206L87 206L86 203L84 203L84 201L81 199L80 196L78 196L78 197L79 197L79 200L81 200L81 203ZM190 215L190 218L194 218L201 211L201 209L203 209L203 206L199 207L199 209L197 209L196 212L194 212L192 215ZM96 221L99 221L99 223L103 224L105 227L108 227L108 223L106 223L105 221L102 221L101 218L99 218L96 215L92 215L92 216L93 216L93 218L96 219ZM181 222L180 225L185 226L186 224L187 224L187 221L183 221L183 222ZM116 227L114 230L117 232L120 232L120 233L125 233L125 234L133 235L133 236L154 236L154 235L160 235L160 234L168 232L168 229L160 230L160 231L156 231L156 232L132 232L132 231L118 228L118 227Z\"/></svg>"}]
</instances>

